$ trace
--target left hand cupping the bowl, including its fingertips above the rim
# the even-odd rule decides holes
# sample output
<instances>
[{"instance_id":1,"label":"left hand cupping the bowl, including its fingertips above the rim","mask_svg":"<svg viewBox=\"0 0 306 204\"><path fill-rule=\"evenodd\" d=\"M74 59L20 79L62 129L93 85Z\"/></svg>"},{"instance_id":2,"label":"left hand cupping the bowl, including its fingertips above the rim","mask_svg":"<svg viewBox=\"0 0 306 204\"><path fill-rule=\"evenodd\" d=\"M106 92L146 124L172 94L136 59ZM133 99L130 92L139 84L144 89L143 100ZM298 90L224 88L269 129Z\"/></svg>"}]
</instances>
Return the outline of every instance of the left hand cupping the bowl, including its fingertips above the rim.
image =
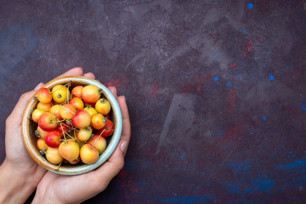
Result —
<instances>
[{"instance_id":1,"label":"left hand cupping the bowl, including its fingertips above the rim","mask_svg":"<svg viewBox=\"0 0 306 204\"><path fill-rule=\"evenodd\" d=\"M92 73L83 74L80 67L70 69L62 76L86 76L95 79ZM14 110L5 122L5 154L6 158L0 166L0 203L24 203L33 193L43 178L46 170L39 166L27 153L22 141L22 115L26 104L32 99L36 90L22 94Z\"/></svg>"}]
</instances>

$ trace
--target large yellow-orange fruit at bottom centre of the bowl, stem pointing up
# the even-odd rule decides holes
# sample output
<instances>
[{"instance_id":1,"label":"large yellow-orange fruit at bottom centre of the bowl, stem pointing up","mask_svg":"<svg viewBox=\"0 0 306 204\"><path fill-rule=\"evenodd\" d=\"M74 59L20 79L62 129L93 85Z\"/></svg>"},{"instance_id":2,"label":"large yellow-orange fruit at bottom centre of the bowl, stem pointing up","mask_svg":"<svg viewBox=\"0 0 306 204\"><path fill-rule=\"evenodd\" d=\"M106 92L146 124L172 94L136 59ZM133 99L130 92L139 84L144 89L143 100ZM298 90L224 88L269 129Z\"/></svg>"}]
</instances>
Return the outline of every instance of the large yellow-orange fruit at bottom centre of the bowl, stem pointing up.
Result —
<instances>
[{"instance_id":1,"label":"large yellow-orange fruit at bottom centre of the bowl, stem pointing up","mask_svg":"<svg viewBox=\"0 0 306 204\"><path fill-rule=\"evenodd\" d=\"M67 161L73 161L79 158L79 144L72 140L63 141L59 146L60 155Z\"/></svg>"}]
</instances>

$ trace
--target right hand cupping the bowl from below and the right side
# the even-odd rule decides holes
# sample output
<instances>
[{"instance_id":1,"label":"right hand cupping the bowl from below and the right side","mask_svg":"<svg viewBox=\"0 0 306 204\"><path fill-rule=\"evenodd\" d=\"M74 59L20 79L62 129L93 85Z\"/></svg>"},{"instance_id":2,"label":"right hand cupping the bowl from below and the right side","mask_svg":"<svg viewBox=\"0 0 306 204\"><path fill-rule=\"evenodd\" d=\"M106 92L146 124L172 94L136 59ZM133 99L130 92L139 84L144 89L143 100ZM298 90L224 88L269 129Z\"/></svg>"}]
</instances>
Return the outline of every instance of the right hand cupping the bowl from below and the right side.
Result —
<instances>
[{"instance_id":1,"label":"right hand cupping the bowl from below and the right side","mask_svg":"<svg viewBox=\"0 0 306 204\"><path fill-rule=\"evenodd\" d=\"M120 141L107 162L85 174L66 176L51 171L45 173L37 186L33 203L81 203L101 191L123 168L124 157L131 138L131 122L124 96L117 96L115 87L108 87L117 99L122 112L122 134Z\"/></svg>"}]
</instances>

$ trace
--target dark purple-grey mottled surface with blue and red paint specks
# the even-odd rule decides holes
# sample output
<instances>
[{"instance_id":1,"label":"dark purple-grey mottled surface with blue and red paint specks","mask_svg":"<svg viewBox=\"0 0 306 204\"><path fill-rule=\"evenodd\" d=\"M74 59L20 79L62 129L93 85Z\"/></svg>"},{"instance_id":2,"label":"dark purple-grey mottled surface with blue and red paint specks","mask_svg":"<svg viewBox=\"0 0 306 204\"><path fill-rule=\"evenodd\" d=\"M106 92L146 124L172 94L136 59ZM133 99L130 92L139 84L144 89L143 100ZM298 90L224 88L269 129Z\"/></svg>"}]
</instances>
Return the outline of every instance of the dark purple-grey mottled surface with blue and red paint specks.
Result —
<instances>
[{"instance_id":1,"label":"dark purple-grey mottled surface with blue and red paint specks","mask_svg":"<svg viewBox=\"0 0 306 204\"><path fill-rule=\"evenodd\" d=\"M1 124L82 66L132 127L124 169L85 203L306 203L305 2L3 0ZM2 163L3 128L0 147Z\"/></svg>"}]
</instances>

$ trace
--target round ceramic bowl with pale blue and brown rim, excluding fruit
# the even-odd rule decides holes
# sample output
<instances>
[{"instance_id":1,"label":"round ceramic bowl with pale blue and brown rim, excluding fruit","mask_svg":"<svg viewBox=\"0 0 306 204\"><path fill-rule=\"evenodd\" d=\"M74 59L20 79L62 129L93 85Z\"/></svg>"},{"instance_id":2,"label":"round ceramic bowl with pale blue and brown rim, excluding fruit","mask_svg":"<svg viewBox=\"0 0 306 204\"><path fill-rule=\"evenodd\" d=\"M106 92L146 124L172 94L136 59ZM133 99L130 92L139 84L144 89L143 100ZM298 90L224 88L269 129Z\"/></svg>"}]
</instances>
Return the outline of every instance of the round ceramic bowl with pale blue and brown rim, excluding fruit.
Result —
<instances>
[{"instance_id":1,"label":"round ceramic bowl with pale blue and brown rim, excluding fruit","mask_svg":"<svg viewBox=\"0 0 306 204\"><path fill-rule=\"evenodd\" d=\"M33 158L33 160L44 167L45 169L52 171L57 174L62 175L78 175L87 173L91 170L96 169L103 163L105 163L110 155L115 150L122 131L122 115L120 111L119 104L115 97L112 95L112 93L109 91L109 89L101 84L100 82L97 82L95 80L92 80L87 77L83 76L69 76L69 77L61 77L54 79L44 85L44 87L49 88L50 90L58 84L66 84L71 81L70 90L77 86L77 85L88 85L93 84L98 86L102 89L101 97L106 98L109 100L111 105L111 111L109 113L110 120L114 123L114 132L112 136L106 137L107 140L107 147L106 150L99 156L99 159L96 163L93 164L84 164L84 163L78 163L78 164L67 164L62 163L59 167L59 165L55 165L52 163L49 163L44 155L40 154L40 151L36 147L36 141L37 137L35 136L35 130L37 129L37 123L33 122L29 118L31 118L31 111L35 109L38 100L35 98L35 95L33 98L28 102L24 114L22 117L22 139L23 143L26 147L26 150L28 151L29 155Z\"/></svg>"}]
</instances>

